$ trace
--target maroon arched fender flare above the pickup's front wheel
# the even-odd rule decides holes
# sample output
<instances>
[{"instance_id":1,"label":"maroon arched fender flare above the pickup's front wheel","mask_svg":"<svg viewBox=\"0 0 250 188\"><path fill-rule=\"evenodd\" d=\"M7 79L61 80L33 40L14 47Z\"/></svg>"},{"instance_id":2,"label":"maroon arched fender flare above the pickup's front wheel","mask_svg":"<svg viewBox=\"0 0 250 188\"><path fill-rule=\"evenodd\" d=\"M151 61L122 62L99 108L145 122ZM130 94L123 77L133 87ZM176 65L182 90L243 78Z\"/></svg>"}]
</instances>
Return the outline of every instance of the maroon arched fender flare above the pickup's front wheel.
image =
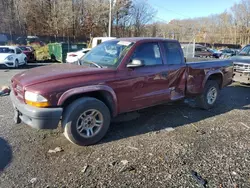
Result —
<instances>
[{"instance_id":1,"label":"maroon arched fender flare above the pickup's front wheel","mask_svg":"<svg viewBox=\"0 0 250 188\"><path fill-rule=\"evenodd\" d=\"M114 102L114 104L113 104L114 105L113 116L116 116L117 112L118 112L116 94L111 87L105 86L105 85L84 86L84 87L77 87L77 88L67 90L66 92L64 92L60 96L57 105L62 106L63 103L71 96L78 95L78 94L84 94L84 93L88 93L88 92L93 92L93 91L106 91L112 96L112 99Z\"/></svg>"}]
</instances>

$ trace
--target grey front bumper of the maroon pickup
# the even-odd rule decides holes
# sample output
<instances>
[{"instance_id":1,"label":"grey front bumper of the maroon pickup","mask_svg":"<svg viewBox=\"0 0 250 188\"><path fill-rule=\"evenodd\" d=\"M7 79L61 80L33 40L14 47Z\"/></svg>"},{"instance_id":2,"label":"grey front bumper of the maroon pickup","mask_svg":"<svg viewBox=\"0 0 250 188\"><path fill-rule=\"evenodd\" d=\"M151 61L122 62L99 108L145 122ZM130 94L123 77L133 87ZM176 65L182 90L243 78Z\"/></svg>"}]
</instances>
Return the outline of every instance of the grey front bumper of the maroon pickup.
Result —
<instances>
[{"instance_id":1,"label":"grey front bumper of the maroon pickup","mask_svg":"<svg viewBox=\"0 0 250 188\"><path fill-rule=\"evenodd\" d=\"M36 129L56 129L62 116L62 108L37 108L20 102L10 93L15 115L22 122Z\"/></svg>"}]
</instances>

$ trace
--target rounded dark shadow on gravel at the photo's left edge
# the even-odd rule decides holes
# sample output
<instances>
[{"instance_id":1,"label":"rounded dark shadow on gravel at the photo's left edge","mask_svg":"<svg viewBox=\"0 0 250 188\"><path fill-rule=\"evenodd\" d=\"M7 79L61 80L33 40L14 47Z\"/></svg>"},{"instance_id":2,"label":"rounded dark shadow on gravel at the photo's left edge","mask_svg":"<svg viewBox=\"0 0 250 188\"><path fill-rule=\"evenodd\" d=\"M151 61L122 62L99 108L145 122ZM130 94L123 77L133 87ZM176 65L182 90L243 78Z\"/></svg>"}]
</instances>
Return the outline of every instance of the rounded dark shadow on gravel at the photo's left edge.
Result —
<instances>
[{"instance_id":1,"label":"rounded dark shadow on gravel at the photo's left edge","mask_svg":"<svg viewBox=\"0 0 250 188\"><path fill-rule=\"evenodd\" d=\"M12 161L12 148L9 143L0 137L0 175Z\"/></svg>"}]
</instances>

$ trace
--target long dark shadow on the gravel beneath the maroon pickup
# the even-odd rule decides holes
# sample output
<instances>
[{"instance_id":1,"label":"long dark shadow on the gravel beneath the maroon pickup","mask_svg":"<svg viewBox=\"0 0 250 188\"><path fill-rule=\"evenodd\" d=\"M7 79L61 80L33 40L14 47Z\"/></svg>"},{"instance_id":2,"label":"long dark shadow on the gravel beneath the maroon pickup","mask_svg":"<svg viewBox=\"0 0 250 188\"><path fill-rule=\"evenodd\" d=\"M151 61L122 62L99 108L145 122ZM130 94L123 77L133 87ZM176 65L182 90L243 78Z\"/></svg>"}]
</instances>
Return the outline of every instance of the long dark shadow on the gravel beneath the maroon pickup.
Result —
<instances>
[{"instance_id":1,"label":"long dark shadow on the gravel beneath the maroon pickup","mask_svg":"<svg viewBox=\"0 0 250 188\"><path fill-rule=\"evenodd\" d=\"M103 142L111 142L140 134L176 128L225 114L234 109L250 109L250 87L232 84L224 88L217 104L210 110L190 107L184 102L165 104L139 111L140 117L121 123L112 123ZM227 121L225 119L225 121Z\"/></svg>"}]
</instances>

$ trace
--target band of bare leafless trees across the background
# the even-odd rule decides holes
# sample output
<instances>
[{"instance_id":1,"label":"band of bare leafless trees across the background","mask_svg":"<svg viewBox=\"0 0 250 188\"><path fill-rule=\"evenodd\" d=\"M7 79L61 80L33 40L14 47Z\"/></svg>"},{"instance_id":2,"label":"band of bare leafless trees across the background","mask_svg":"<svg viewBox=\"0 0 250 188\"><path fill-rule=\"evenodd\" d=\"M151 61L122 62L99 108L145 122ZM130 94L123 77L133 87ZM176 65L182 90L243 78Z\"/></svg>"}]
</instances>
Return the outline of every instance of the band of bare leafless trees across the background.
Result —
<instances>
[{"instance_id":1,"label":"band of bare leafless trees across the background","mask_svg":"<svg viewBox=\"0 0 250 188\"><path fill-rule=\"evenodd\" d=\"M182 42L250 43L250 0L221 14L154 22L146 0L112 0L113 36L160 36ZM109 0L0 0L0 33L89 38L107 36Z\"/></svg>"}]
</instances>

